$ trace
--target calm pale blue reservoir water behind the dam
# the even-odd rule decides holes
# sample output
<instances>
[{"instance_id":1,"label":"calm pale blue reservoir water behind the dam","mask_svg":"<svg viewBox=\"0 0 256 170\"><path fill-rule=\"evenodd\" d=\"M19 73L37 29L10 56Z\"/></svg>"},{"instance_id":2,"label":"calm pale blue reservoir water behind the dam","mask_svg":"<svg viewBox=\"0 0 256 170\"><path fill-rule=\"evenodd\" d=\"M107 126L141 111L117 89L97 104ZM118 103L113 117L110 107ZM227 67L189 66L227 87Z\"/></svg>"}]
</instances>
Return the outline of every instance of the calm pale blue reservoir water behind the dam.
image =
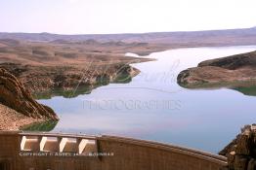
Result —
<instances>
[{"instance_id":1,"label":"calm pale blue reservoir water behind the dam","mask_svg":"<svg viewBox=\"0 0 256 170\"><path fill-rule=\"evenodd\" d=\"M205 59L255 50L250 46L154 52L146 57L156 61L133 64L141 73L129 84L39 102L59 114L56 132L121 135L218 153L241 126L255 122L256 96L226 88L186 89L176 78Z\"/></svg>"}]
</instances>

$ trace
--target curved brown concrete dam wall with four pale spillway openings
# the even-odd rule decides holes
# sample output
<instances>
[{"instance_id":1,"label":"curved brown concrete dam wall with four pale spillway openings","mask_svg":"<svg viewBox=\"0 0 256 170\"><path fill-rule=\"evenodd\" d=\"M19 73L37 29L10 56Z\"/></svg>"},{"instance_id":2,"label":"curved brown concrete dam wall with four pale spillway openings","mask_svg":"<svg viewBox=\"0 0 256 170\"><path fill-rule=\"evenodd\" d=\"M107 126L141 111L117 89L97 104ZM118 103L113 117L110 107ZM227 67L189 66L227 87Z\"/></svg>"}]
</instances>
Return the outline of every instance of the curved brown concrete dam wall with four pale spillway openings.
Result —
<instances>
[{"instance_id":1,"label":"curved brown concrete dam wall with four pale spillway openings","mask_svg":"<svg viewBox=\"0 0 256 170\"><path fill-rule=\"evenodd\" d=\"M1 131L0 170L219 170L227 158L122 138Z\"/></svg>"}]
</instances>

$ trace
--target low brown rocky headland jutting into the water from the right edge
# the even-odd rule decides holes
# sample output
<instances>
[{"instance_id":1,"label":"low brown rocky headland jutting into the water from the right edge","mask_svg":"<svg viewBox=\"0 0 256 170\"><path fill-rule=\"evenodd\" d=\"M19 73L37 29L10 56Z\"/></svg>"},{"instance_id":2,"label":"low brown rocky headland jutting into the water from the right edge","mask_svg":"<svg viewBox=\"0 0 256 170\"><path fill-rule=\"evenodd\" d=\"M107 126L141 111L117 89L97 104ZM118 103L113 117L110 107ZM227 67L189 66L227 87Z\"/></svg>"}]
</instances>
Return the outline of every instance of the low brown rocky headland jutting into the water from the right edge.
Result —
<instances>
[{"instance_id":1,"label":"low brown rocky headland jutting into the water from the right edge","mask_svg":"<svg viewBox=\"0 0 256 170\"><path fill-rule=\"evenodd\" d=\"M182 71L178 84L184 87L240 87L256 80L256 51L206 60Z\"/></svg>"}]
</instances>

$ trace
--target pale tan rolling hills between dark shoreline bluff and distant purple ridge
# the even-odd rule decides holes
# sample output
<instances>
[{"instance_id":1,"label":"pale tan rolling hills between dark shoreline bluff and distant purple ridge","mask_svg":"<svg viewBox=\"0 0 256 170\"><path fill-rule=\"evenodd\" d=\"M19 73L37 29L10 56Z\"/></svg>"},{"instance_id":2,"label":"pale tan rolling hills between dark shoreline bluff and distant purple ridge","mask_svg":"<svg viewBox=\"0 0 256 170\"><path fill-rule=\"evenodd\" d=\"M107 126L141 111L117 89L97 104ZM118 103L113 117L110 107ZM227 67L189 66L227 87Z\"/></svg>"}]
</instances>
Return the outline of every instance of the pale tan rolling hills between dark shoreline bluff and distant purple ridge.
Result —
<instances>
[{"instance_id":1,"label":"pale tan rolling hills between dark shoreline bluff and distant purple ridge","mask_svg":"<svg viewBox=\"0 0 256 170\"><path fill-rule=\"evenodd\" d=\"M63 42L62 42L63 43ZM12 62L31 65L84 65L88 62L120 63L147 60L124 56L127 51L147 49L148 44L118 43L31 43L12 39L0 39L0 62ZM147 50L146 50L147 51ZM153 51L153 50L150 50Z\"/></svg>"}]
</instances>

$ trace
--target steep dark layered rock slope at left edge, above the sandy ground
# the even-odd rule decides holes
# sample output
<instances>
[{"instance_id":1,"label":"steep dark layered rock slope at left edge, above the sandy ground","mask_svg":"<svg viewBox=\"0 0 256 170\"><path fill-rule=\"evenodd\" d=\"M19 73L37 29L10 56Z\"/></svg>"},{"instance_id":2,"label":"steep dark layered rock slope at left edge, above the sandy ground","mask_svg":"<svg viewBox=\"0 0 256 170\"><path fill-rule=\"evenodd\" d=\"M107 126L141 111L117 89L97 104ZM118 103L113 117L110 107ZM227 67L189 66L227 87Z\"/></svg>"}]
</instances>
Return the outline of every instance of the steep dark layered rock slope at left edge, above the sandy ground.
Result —
<instances>
[{"instance_id":1,"label":"steep dark layered rock slope at left edge, above the sandy ground","mask_svg":"<svg viewBox=\"0 0 256 170\"><path fill-rule=\"evenodd\" d=\"M2 68L0 68L0 103L28 118L58 119L51 108L37 103L20 81Z\"/></svg>"}]
</instances>

